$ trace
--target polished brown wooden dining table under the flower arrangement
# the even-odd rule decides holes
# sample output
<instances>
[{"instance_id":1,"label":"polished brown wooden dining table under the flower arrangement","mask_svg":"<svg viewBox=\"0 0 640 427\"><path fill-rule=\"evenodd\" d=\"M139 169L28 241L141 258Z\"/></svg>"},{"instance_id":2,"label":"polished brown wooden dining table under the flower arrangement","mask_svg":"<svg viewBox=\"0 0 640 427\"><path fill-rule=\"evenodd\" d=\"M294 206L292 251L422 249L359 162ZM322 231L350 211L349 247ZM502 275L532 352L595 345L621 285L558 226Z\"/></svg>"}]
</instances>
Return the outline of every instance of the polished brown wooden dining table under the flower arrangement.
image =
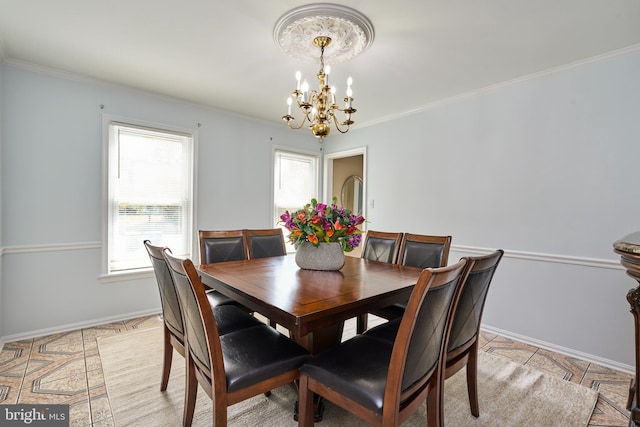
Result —
<instances>
[{"instance_id":1,"label":"polished brown wooden dining table under the flower arrangement","mask_svg":"<svg viewBox=\"0 0 640 427\"><path fill-rule=\"evenodd\" d=\"M275 321L311 354L341 341L344 321L406 301L419 268L345 256L339 271L300 269L295 254L201 264L202 282Z\"/></svg>"}]
</instances>

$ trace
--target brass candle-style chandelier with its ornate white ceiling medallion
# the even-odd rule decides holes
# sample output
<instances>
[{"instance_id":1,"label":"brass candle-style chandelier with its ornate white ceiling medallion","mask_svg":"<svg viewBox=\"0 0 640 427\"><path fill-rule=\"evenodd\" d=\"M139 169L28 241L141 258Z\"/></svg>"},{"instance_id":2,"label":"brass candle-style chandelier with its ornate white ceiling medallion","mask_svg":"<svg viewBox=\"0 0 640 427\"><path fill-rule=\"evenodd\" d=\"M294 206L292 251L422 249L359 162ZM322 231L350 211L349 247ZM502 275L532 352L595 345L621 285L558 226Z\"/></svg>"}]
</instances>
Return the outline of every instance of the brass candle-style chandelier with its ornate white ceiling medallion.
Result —
<instances>
[{"instance_id":1,"label":"brass candle-style chandelier with its ornate white ceiling medallion","mask_svg":"<svg viewBox=\"0 0 640 427\"><path fill-rule=\"evenodd\" d=\"M283 15L274 29L274 38L284 52L306 62L317 61L317 50L311 49L313 46L320 49L320 71L316 74L318 89L310 90L301 73L296 72L296 89L287 98L287 114L282 116L287 126L300 129L307 124L320 142L329 135L331 125L338 132L347 133L354 123L351 115L357 111L352 105L353 80L351 76L347 79L344 104L339 105L336 88L329 85L331 67L325 66L325 53L333 64L360 54L373 41L371 22L345 6L312 4ZM292 115L294 105L302 115L298 124Z\"/></svg>"}]
</instances>

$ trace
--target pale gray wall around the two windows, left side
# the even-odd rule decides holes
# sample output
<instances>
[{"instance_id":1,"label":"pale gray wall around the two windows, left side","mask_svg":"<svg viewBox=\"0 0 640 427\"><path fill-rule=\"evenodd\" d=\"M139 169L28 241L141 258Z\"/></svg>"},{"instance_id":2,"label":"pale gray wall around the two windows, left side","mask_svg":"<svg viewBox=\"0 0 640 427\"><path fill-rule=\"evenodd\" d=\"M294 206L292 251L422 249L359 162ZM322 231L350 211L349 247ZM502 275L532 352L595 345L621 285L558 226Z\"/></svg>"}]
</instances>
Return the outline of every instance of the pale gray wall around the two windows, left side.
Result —
<instances>
[{"instance_id":1,"label":"pale gray wall around the two windows, left side","mask_svg":"<svg viewBox=\"0 0 640 427\"><path fill-rule=\"evenodd\" d=\"M152 275L100 279L103 113L198 129L196 230L273 226L272 145L319 150L285 126L26 64L0 67L5 339L159 311Z\"/></svg>"}]
</instances>

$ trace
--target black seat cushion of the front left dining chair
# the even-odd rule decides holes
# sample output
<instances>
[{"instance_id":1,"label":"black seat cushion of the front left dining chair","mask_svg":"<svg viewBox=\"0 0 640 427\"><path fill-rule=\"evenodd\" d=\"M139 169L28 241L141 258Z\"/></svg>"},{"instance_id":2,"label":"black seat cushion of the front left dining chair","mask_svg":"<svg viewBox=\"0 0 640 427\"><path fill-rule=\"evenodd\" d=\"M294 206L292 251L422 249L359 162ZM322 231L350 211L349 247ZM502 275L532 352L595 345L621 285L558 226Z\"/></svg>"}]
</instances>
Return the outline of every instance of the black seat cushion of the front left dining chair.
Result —
<instances>
[{"instance_id":1,"label":"black seat cushion of the front left dining chair","mask_svg":"<svg viewBox=\"0 0 640 427\"><path fill-rule=\"evenodd\" d=\"M309 352L274 328L254 326L220 336L229 392L300 367Z\"/></svg>"}]
</instances>

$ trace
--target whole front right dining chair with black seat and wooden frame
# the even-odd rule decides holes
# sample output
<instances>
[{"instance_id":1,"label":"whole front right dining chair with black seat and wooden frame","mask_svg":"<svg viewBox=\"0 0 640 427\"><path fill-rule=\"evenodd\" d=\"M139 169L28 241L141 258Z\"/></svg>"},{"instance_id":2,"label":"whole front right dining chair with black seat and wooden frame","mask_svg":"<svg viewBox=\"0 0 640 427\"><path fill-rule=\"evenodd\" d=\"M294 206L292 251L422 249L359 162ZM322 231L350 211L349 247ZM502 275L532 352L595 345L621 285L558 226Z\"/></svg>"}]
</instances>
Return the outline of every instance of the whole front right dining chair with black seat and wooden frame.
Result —
<instances>
[{"instance_id":1,"label":"whole front right dining chair with black seat and wooden frame","mask_svg":"<svg viewBox=\"0 0 640 427\"><path fill-rule=\"evenodd\" d=\"M442 426L444 356L467 265L421 273L394 341L356 335L306 362L298 425L313 424L317 393L374 426L398 426L426 401L429 427Z\"/></svg>"}]
</instances>

